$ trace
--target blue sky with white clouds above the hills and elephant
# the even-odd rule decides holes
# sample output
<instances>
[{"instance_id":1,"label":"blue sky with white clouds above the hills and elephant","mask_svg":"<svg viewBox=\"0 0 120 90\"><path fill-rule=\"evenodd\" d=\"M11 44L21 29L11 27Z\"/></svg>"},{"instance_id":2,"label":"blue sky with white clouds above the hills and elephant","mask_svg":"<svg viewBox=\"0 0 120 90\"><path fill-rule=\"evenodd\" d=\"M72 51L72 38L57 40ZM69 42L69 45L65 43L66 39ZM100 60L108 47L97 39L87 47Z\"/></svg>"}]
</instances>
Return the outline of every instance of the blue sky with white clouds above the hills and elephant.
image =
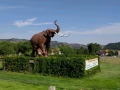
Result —
<instances>
[{"instance_id":1,"label":"blue sky with white clouds above the hills and elephant","mask_svg":"<svg viewBox=\"0 0 120 90\"><path fill-rule=\"evenodd\" d=\"M47 28L52 41L89 44L120 42L120 0L0 0L0 39L30 39Z\"/></svg>"}]
</instances>

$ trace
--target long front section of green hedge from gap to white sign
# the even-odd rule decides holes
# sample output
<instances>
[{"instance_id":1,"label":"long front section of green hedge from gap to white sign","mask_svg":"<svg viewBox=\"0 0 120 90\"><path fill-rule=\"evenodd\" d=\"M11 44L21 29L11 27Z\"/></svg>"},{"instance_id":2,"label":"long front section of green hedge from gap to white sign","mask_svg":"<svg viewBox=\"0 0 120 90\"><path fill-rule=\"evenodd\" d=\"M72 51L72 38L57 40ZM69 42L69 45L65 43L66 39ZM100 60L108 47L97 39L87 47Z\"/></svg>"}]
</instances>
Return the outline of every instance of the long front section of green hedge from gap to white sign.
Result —
<instances>
[{"instance_id":1,"label":"long front section of green hedge from gap to white sign","mask_svg":"<svg viewBox=\"0 0 120 90\"><path fill-rule=\"evenodd\" d=\"M84 76L83 58L36 58L34 72L42 75L81 77Z\"/></svg>"}]
</instances>

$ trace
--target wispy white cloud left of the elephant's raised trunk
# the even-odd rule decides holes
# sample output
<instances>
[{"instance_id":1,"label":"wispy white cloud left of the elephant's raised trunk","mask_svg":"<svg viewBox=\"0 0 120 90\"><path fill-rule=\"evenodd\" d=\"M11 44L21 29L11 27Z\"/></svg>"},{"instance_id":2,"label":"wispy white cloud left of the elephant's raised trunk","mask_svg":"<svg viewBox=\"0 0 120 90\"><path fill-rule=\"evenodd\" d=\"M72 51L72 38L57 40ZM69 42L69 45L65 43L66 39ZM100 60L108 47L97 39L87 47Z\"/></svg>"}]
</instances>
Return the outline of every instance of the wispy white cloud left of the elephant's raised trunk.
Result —
<instances>
[{"instance_id":1,"label":"wispy white cloud left of the elephant's raised trunk","mask_svg":"<svg viewBox=\"0 0 120 90\"><path fill-rule=\"evenodd\" d=\"M17 27L23 27L23 26L28 26L28 25L48 25L48 24L53 24L51 22L45 22L45 23L33 23L36 20L36 18L31 18L25 21L18 20L15 21L13 25L16 25Z\"/></svg>"}]
</instances>

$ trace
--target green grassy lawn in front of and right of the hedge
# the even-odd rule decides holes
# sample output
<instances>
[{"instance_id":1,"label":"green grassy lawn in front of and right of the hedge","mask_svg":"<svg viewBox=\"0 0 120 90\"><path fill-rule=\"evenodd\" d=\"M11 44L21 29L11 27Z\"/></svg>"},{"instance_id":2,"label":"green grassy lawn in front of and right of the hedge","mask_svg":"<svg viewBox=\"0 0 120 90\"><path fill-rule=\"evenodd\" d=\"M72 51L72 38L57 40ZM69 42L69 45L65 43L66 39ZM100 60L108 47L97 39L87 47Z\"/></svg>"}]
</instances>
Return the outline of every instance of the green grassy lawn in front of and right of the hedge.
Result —
<instances>
[{"instance_id":1,"label":"green grassy lawn in front of and right of the hedge","mask_svg":"<svg viewBox=\"0 0 120 90\"><path fill-rule=\"evenodd\" d=\"M89 78L74 79L0 71L0 90L120 90L120 58L104 57L101 72ZM1 64L1 62L0 62Z\"/></svg>"}]
</instances>

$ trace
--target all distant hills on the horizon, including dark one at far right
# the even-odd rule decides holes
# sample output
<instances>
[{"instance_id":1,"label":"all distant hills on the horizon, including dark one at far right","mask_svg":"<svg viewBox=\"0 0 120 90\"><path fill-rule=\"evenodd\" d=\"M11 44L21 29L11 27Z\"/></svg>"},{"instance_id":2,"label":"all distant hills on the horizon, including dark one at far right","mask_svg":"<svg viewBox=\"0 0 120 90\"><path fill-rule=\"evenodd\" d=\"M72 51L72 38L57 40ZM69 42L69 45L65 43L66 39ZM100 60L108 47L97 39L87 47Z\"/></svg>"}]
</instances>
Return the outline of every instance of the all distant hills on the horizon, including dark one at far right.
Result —
<instances>
[{"instance_id":1,"label":"all distant hills on the horizon, including dark one at far right","mask_svg":"<svg viewBox=\"0 0 120 90\"><path fill-rule=\"evenodd\" d=\"M0 41L25 42L25 41L29 41L29 40L27 40L27 39L11 38L11 39L0 39ZM80 48L80 47L87 48L87 45L78 44L78 43L67 43L67 42L51 41L50 44L51 44L51 48L54 48L54 47L57 47L57 46L60 46L60 45L69 45L72 48ZM120 50L120 42L109 43L107 45L104 45L103 49Z\"/></svg>"}]
</instances>

